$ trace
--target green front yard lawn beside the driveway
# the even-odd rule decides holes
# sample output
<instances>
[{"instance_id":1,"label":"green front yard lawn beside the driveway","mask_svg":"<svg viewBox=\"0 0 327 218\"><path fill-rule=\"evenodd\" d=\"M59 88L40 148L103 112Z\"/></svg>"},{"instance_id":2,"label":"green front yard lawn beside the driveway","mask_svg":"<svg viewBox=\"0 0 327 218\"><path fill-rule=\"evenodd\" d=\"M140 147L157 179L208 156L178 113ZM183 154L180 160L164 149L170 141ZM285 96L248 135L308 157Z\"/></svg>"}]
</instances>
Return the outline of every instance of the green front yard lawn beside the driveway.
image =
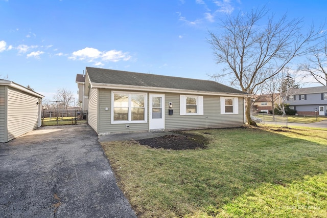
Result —
<instances>
[{"instance_id":1,"label":"green front yard lawn beside the driveway","mask_svg":"<svg viewBox=\"0 0 327 218\"><path fill-rule=\"evenodd\" d=\"M277 130L188 131L209 138L196 150L102 146L138 217L327 217L327 131Z\"/></svg>"}]
</instances>

